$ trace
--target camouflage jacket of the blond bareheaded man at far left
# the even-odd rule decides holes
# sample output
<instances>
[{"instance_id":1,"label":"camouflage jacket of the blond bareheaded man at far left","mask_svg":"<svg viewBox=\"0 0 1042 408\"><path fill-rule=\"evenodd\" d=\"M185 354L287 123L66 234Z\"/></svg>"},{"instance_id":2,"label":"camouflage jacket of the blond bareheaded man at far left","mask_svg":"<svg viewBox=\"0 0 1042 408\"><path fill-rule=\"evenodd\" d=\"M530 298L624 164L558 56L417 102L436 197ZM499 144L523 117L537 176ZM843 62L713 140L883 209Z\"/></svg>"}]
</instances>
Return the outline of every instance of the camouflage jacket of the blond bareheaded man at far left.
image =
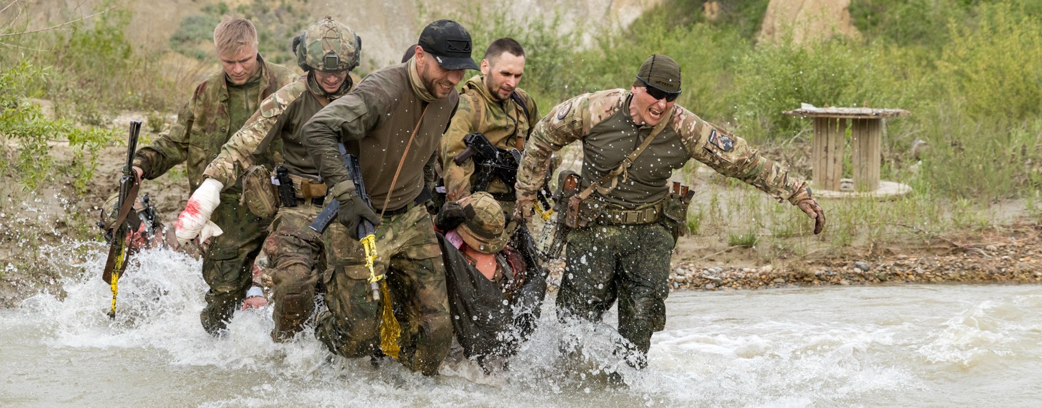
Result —
<instances>
[{"instance_id":1,"label":"camouflage jacket of the blond bareheaded man at far left","mask_svg":"<svg viewBox=\"0 0 1042 408\"><path fill-rule=\"evenodd\" d=\"M266 62L259 54L257 60L260 66L257 85L260 92L256 105L259 105L262 100L298 75L282 66ZM193 192L199 187L206 164L217 158L221 146L243 125L231 123L231 118L238 114L231 114L230 110L237 107L229 106L228 101L228 82L224 71L210 75L196 86L192 99L177 113L177 122L160 133L152 145L139 149L134 154L133 163L144 171L142 176L154 179L188 160L189 186ZM242 117L249 118L251 113Z\"/></svg>"}]
</instances>

